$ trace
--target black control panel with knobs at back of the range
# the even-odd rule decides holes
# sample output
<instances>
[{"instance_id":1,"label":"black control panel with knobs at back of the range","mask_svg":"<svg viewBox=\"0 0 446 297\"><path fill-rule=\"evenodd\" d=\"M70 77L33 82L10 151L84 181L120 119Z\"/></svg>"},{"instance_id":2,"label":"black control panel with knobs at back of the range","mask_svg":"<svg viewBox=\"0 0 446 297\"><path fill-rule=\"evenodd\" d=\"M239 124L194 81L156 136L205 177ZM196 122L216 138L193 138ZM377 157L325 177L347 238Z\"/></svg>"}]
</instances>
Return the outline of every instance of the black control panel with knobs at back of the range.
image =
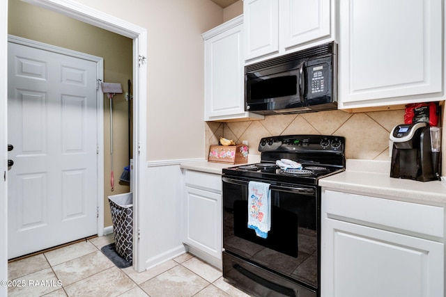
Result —
<instances>
[{"instance_id":1,"label":"black control panel with knobs at back of the range","mask_svg":"<svg viewBox=\"0 0 446 297\"><path fill-rule=\"evenodd\" d=\"M273 151L328 151L344 152L345 138L325 135L288 135L262 138L259 152Z\"/></svg>"}]
</instances>

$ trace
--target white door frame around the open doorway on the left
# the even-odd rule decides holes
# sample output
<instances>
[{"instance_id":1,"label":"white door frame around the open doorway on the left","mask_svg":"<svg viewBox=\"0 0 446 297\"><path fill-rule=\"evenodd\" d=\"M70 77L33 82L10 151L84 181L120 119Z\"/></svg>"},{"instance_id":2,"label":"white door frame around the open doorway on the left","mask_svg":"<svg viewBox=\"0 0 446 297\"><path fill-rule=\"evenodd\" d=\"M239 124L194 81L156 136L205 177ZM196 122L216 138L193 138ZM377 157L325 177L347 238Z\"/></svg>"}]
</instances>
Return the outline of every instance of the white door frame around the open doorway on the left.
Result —
<instances>
[{"instance_id":1,"label":"white door frame around the open doorway on the left","mask_svg":"<svg viewBox=\"0 0 446 297\"><path fill-rule=\"evenodd\" d=\"M144 197L144 177L146 175L146 93L147 93L147 67L146 67L146 52L147 52L147 30L125 22L112 15L107 15L99 10L89 8L80 3L76 3L70 0L25 0L36 6L47 8L53 10L56 13L61 13L68 17L78 19L79 21L86 22L93 26L98 26L107 31L112 31L118 33L133 40L133 268L134 270L141 272L146 269L145 259L147 249L139 249L139 236L143 236L142 232L139 232L139 218L141 214L141 209L139 209L139 201L141 197ZM0 38L3 40L0 42L0 65L7 65L7 26L8 26L8 0L0 0L0 19L3 22L0 24ZM3 130L0 132L0 155L2 157L2 162L0 165L0 172L7 172L6 160L7 160L7 134L8 131L8 120L6 118L6 107L7 107L7 69L6 67L0 68L0 72L3 74L4 79L0 79L0 113L4 113L1 117L0 126ZM5 107L3 109L3 107ZM2 114L3 115L3 114ZM3 175L3 173L1 173ZM3 182L1 182L3 184ZM0 276L3 273L7 273L7 268L3 268L7 260L7 256L3 259L3 255L7 252L7 218L6 210L7 205L7 186L3 184L0 187L0 191L5 195L1 198L0 207L3 216L1 216L0 221ZM1 193L0 192L0 193ZM6 209L6 210L5 210ZM6 220L6 223L4 221ZM3 226L4 225L4 226ZM3 250L5 249L5 250ZM142 255L144 254L144 255ZM7 254L6 254L7 255ZM6 270L5 270L6 269ZM7 279L7 278L2 278ZM0 287L0 290L3 288ZM1 291L0 291L1 293ZM1 295L1 294L0 294Z\"/></svg>"}]
</instances>

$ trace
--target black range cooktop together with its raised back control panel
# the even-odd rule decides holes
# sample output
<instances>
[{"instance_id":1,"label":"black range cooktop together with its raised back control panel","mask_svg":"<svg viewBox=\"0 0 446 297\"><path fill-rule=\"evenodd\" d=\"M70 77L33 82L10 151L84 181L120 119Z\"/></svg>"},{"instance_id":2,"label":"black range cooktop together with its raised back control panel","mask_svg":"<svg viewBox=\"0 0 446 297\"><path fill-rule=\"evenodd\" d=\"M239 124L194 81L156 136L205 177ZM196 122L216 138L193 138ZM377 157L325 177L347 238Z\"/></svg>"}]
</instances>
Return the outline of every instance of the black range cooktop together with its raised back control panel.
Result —
<instances>
[{"instance_id":1,"label":"black range cooktop together with its raised back control panel","mask_svg":"<svg viewBox=\"0 0 446 297\"><path fill-rule=\"evenodd\" d=\"M341 136L291 135L262 138L261 162L224 168L224 175L293 184L318 184L318 179L345 170L345 139ZM290 159L302 169L284 170L277 160Z\"/></svg>"}]
</instances>

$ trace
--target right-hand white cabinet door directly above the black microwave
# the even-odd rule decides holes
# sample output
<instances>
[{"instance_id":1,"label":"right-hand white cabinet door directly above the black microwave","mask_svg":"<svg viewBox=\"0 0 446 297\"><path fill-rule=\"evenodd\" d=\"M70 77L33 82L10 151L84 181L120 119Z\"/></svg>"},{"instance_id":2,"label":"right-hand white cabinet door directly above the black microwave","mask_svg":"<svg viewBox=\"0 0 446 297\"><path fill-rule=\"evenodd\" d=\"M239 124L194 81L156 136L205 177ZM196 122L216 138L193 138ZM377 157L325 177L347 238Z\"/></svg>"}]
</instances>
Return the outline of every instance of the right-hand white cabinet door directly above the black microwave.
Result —
<instances>
[{"instance_id":1,"label":"right-hand white cabinet door directly above the black microwave","mask_svg":"<svg viewBox=\"0 0 446 297\"><path fill-rule=\"evenodd\" d=\"M282 0L281 47L285 49L330 36L330 0Z\"/></svg>"}]
</instances>

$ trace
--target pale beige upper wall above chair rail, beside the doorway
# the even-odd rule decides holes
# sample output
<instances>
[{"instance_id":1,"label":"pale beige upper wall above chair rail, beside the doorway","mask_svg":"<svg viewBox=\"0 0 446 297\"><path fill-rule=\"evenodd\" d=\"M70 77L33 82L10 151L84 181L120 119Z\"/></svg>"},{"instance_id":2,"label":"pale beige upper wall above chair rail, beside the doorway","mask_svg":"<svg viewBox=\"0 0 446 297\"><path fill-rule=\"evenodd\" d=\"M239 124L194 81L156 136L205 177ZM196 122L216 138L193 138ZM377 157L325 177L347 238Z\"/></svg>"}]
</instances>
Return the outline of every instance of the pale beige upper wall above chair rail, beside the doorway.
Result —
<instances>
[{"instance_id":1,"label":"pale beige upper wall above chair rail, beside the doorway","mask_svg":"<svg viewBox=\"0 0 446 297\"><path fill-rule=\"evenodd\" d=\"M202 158L203 40L222 24L209 0L76 0L148 31L148 160Z\"/></svg>"}]
</instances>

